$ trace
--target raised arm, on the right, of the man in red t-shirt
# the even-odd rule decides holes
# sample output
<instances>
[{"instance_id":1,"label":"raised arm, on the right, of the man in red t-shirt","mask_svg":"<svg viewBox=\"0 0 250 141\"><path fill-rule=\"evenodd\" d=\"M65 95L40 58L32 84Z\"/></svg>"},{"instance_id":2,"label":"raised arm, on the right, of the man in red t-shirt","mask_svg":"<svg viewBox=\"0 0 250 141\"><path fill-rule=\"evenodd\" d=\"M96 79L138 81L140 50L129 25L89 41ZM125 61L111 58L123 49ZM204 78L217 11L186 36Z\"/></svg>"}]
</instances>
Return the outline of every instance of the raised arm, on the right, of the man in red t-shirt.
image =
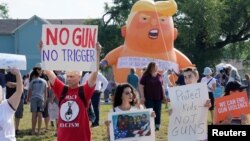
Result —
<instances>
[{"instance_id":1,"label":"raised arm, on the right, of the man in red t-shirt","mask_svg":"<svg viewBox=\"0 0 250 141\"><path fill-rule=\"evenodd\" d=\"M99 70L99 62L100 62L100 53L101 53L101 45L100 43L96 43L96 67L97 70L95 72L91 72L89 79L88 79L88 85L89 87L93 87L96 84L96 79L97 79L97 75L98 75L98 70Z\"/></svg>"}]
</instances>

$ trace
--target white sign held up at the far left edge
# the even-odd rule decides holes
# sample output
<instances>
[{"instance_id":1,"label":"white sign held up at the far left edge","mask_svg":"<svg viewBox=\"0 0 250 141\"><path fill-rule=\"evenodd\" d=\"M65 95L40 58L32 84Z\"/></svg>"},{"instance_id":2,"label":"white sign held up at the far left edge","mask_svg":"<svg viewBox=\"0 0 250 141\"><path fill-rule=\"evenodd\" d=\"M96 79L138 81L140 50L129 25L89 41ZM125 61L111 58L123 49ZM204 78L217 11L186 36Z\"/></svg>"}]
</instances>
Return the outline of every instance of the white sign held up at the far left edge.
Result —
<instances>
[{"instance_id":1,"label":"white sign held up at the far left edge","mask_svg":"<svg viewBox=\"0 0 250 141\"><path fill-rule=\"evenodd\" d=\"M8 67L15 67L19 70L26 70L26 56L17 54L0 53L0 68L8 69Z\"/></svg>"}]
</instances>

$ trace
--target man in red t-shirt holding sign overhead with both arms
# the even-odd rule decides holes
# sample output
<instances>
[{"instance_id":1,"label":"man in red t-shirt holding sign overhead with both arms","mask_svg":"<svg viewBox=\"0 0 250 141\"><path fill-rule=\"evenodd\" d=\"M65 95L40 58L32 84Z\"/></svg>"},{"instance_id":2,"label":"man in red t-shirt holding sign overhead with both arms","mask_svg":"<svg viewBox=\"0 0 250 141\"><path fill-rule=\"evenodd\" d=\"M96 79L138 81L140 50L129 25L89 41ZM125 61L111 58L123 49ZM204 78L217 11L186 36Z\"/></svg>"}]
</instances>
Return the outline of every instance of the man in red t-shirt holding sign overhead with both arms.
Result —
<instances>
[{"instance_id":1,"label":"man in red t-shirt holding sign overhead with both arms","mask_svg":"<svg viewBox=\"0 0 250 141\"><path fill-rule=\"evenodd\" d=\"M97 49L97 70L99 70L99 59L101 45L96 44ZM89 126L89 119L87 116L87 103L89 103L97 80L98 71L92 72L88 81L79 86L81 79L81 72L68 71L66 72L68 88L66 96L62 96L64 86L53 71L46 70L50 83L55 96L59 99L59 120L57 128L57 140L58 141L90 141L91 131ZM82 90L80 90L80 88ZM78 94L78 91L82 91L82 95ZM81 99L83 97L83 99ZM60 102L61 101L61 102ZM85 104L86 103L86 104Z\"/></svg>"}]
</instances>

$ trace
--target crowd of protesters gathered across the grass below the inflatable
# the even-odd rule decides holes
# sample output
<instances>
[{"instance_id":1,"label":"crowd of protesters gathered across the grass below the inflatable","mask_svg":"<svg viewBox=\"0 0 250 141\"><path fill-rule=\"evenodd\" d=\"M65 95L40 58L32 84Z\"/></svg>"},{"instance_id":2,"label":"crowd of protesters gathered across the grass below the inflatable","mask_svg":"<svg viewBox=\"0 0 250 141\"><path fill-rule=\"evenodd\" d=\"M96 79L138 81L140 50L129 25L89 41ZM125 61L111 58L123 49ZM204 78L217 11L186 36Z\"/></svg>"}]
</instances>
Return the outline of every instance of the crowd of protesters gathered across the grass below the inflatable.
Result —
<instances>
[{"instance_id":1,"label":"crowd of protesters gathered across the grass below the inflatable","mask_svg":"<svg viewBox=\"0 0 250 141\"><path fill-rule=\"evenodd\" d=\"M100 53L100 44L96 46L97 53ZM55 136L59 141L91 140L90 127L100 125L102 93L105 103L109 103L109 95L112 96L111 113L152 109L154 130L159 131L162 118L164 118L161 116L164 111L162 103L166 104L170 116L171 112L174 112L168 107L171 105L169 88L198 82L206 83L208 88L209 99L204 106L210 111L211 124L234 124L236 121L240 124L249 123L247 115L240 117L228 115L224 121L215 122L214 120L216 118L213 112L216 108L215 98L230 95L231 91L242 90L246 91L248 99L250 96L249 74L245 74L245 79L242 79L232 65L220 68L218 72L205 67L200 77L195 67L188 67L176 73L172 69L159 71L157 64L150 62L142 69L141 76L137 75L135 68L131 68L127 74L127 82L117 84L113 78L107 80L100 72L99 57L97 64L97 72L82 73L42 70L41 64L38 63L32 72L24 75L23 78L21 78L20 71L15 68L10 68L7 74L1 70L0 112L6 114L0 116L0 140L15 140L15 137L20 134L19 123L23 117L24 104L30 105L32 113L30 135L42 134L41 126L42 119L44 119L45 130L48 130L50 121L51 125L57 128ZM177 76L177 79L173 79L173 75ZM215 96L216 89L221 89L217 96ZM89 122L90 102L94 109L95 119ZM15 117L14 120L7 122L6 120L12 119L12 116ZM145 115L120 116L118 119L120 122L117 121L117 128L114 130L116 138L150 134L149 117ZM105 121L108 135L110 123L108 119ZM132 128L137 126L138 129ZM142 128L143 131L141 131Z\"/></svg>"}]
</instances>

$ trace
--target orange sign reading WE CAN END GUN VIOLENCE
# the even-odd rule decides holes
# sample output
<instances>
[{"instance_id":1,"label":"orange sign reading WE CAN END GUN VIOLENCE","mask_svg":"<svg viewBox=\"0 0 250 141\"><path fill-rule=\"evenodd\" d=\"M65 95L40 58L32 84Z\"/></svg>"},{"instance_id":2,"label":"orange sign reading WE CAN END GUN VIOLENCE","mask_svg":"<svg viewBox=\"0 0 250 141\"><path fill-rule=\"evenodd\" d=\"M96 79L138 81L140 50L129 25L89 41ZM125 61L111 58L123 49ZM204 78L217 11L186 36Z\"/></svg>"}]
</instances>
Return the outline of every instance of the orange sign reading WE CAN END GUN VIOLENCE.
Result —
<instances>
[{"instance_id":1,"label":"orange sign reading WE CAN END GUN VIOLENCE","mask_svg":"<svg viewBox=\"0 0 250 141\"><path fill-rule=\"evenodd\" d=\"M228 96L215 99L215 105L217 122L225 120L229 114L237 117L250 113L246 92L231 92Z\"/></svg>"}]
</instances>

